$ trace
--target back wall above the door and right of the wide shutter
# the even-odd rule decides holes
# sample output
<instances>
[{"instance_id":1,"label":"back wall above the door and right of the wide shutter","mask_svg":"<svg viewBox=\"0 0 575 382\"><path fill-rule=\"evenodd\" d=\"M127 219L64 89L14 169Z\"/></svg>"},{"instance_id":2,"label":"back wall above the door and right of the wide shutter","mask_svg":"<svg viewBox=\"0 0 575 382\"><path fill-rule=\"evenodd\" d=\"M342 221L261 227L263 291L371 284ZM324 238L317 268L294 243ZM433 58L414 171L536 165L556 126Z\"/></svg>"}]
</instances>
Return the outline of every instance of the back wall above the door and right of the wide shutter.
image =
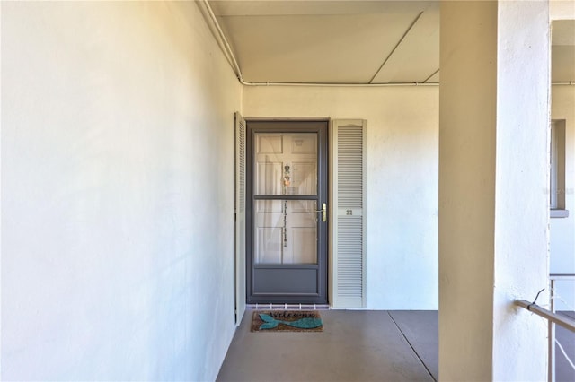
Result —
<instances>
[{"instance_id":1,"label":"back wall above the door and right of the wide shutter","mask_svg":"<svg viewBox=\"0 0 575 382\"><path fill-rule=\"evenodd\" d=\"M438 308L438 88L245 87L246 117L367 119L367 308Z\"/></svg>"}]
</instances>

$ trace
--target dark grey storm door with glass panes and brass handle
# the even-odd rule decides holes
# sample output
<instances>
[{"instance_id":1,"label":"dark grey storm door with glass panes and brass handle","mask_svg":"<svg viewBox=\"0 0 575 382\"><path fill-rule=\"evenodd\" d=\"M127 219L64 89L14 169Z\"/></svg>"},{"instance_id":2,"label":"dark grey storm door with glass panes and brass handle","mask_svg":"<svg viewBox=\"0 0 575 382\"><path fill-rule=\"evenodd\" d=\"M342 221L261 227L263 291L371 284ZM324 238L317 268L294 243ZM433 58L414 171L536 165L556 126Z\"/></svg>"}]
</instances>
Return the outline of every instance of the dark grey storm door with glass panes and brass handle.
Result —
<instances>
[{"instance_id":1,"label":"dark grey storm door with glass panes and brass handle","mask_svg":"<svg viewBox=\"0 0 575 382\"><path fill-rule=\"evenodd\" d=\"M247 122L249 303L327 303L327 124Z\"/></svg>"}]
</instances>

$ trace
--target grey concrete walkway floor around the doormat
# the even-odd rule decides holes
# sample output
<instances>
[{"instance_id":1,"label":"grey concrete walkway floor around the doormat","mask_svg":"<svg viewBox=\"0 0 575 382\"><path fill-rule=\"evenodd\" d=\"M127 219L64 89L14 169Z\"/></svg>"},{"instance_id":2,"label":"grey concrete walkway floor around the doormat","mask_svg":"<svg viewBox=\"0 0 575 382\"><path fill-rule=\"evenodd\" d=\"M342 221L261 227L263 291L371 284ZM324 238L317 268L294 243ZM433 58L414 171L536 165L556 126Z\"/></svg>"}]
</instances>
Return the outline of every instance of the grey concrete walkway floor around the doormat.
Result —
<instances>
[{"instance_id":1,"label":"grey concrete walkway floor around the doormat","mask_svg":"<svg viewBox=\"0 0 575 382\"><path fill-rule=\"evenodd\" d=\"M575 317L573 312L564 312ZM247 311L217 381L437 381L438 312L322 310L322 333L252 333ZM575 333L557 327L575 358ZM575 381L557 350L556 381Z\"/></svg>"}]
</instances>

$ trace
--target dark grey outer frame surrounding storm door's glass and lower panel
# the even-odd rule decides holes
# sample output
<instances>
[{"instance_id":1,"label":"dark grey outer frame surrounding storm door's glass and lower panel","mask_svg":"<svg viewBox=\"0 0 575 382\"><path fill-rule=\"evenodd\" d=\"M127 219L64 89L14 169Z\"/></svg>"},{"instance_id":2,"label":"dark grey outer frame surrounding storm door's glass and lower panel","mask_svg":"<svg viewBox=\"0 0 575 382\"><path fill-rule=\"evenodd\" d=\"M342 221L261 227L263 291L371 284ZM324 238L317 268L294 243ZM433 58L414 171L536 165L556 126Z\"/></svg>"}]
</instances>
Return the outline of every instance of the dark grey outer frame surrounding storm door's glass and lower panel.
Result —
<instances>
[{"instance_id":1,"label":"dark grey outer frame surrounding storm door's glass and lower panel","mask_svg":"<svg viewBox=\"0 0 575 382\"><path fill-rule=\"evenodd\" d=\"M253 303L316 303L329 302L329 215L325 223L318 219L318 278L316 295L255 295L253 293L252 256L254 246L253 232L253 164L254 164L254 133L317 133L318 135L318 202L330 205L330 175L329 175L329 118L250 118L246 117L246 239L245 239L245 272L246 272L246 302ZM274 126L257 126L270 123ZM309 123L309 126L305 126ZM300 124L300 126L293 126ZM255 125L255 126L254 126ZM292 126L289 126L292 125ZM328 209L329 211L329 209Z\"/></svg>"}]
</instances>

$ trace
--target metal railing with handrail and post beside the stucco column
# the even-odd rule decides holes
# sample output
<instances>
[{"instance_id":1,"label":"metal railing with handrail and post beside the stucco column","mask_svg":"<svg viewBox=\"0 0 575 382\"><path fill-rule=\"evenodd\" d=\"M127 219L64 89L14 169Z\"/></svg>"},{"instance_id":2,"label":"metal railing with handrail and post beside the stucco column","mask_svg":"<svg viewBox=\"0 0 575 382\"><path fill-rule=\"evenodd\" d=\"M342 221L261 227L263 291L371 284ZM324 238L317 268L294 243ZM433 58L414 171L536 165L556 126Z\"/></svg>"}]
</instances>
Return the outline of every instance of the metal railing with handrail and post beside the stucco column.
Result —
<instances>
[{"instance_id":1,"label":"metal railing with handrail and post beside the stucco column","mask_svg":"<svg viewBox=\"0 0 575 382\"><path fill-rule=\"evenodd\" d=\"M555 325L564 327L567 330L575 333L575 320L571 317L558 315L555 313L555 282L558 281L575 281L575 273L551 273L549 275L550 282L550 308L551 310L540 307L535 302L527 300L516 300L515 304L519 307L526 308L530 312L535 313L539 317L544 317L548 320L548 346L549 346L549 361L548 361L548 380L549 382L555 381ZM566 355L566 354L565 354Z\"/></svg>"}]
</instances>

